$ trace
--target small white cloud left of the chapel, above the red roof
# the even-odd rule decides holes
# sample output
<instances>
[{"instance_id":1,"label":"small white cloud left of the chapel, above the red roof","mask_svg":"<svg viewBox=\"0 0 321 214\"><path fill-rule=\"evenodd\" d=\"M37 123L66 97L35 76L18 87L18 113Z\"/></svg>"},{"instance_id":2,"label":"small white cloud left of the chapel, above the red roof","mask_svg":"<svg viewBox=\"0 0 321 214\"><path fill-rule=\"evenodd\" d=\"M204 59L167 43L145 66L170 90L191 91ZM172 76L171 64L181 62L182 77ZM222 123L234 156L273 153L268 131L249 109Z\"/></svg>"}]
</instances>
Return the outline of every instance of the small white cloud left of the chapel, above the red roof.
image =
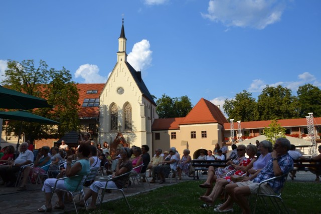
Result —
<instances>
[{"instance_id":1,"label":"small white cloud left of the chapel, above the red roof","mask_svg":"<svg viewBox=\"0 0 321 214\"><path fill-rule=\"evenodd\" d=\"M99 75L99 68L96 65L85 64L79 66L75 72L75 77L84 79L83 83L105 83L106 77Z\"/></svg>"}]
</instances>

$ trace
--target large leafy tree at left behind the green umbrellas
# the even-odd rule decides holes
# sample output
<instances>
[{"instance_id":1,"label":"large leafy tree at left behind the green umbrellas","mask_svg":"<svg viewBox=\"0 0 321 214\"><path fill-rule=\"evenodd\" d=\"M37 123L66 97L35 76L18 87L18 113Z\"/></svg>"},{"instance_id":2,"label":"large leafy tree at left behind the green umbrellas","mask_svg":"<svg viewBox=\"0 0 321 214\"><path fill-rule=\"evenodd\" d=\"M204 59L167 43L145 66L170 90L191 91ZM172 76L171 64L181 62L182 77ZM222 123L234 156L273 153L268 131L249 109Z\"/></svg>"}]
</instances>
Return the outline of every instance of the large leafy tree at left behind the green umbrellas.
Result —
<instances>
[{"instance_id":1,"label":"large leafy tree at left behind the green umbrellas","mask_svg":"<svg viewBox=\"0 0 321 214\"><path fill-rule=\"evenodd\" d=\"M42 60L38 66L35 66L34 60L24 60L21 63L9 60L2 83L16 91L45 98L53 106L52 109L39 108L29 111L60 122L58 129L39 123L24 123L22 132L26 134L27 139L59 137L78 129L79 94L70 72L65 68L48 70L46 62ZM11 121L10 124L9 132L18 136L20 122Z\"/></svg>"}]
</instances>

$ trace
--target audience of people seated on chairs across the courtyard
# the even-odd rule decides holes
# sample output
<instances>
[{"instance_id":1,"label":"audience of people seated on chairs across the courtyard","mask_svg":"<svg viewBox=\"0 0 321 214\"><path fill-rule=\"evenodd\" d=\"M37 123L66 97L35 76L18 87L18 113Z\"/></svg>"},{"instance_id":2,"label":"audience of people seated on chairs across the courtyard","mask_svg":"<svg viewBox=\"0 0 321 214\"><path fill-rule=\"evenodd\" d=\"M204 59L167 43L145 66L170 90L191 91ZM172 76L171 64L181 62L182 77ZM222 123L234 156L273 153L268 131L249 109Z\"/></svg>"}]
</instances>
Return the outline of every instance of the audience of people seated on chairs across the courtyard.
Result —
<instances>
[{"instance_id":1,"label":"audience of people seated on chairs across the courtyard","mask_svg":"<svg viewBox=\"0 0 321 214\"><path fill-rule=\"evenodd\" d=\"M61 189L75 189L76 183L80 179L74 177L75 175L88 174L90 168L99 167L102 170L110 171L110 181L106 182L93 179L86 185L90 189L86 192L84 200L87 201L91 197L89 209L96 208L96 200L98 192L101 188L122 188L128 183L129 176L120 176L127 172L136 173L138 175L145 174L146 170L149 170L149 176L151 177L150 183L155 183L159 180L159 183L166 182L167 177L178 176L178 179L182 179L183 172L186 176L194 176L194 172L191 173L191 160L190 150L185 149L183 151L182 158L175 147L171 147L169 152L162 154L161 148L155 149L155 155L150 159L148 154L149 147L142 145L140 147L132 146L131 149L127 147L117 147L116 154L113 158L109 156L109 149L104 154L103 149L99 146L90 145L87 143L87 136L82 139L76 153L77 161L73 161L75 156L73 154L66 155L65 168L60 170L59 163L63 161L63 157L59 153L58 147L52 147L51 149L44 146L38 152L34 161L34 153L28 150L28 143L22 143L20 147L19 156L13 160L13 154L15 149L7 147L3 157L7 159L1 159L0 164L6 165L0 166L0 176L7 186L15 186L16 173L22 166L34 163L33 165L25 167L23 171L23 179L18 187L18 190L23 191L27 189L28 177L31 181L35 182L33 176L37 173L45 173L49 168L55 171L60 170L59 177L66 177L66 179L58 180L53 176L44 181L42 190L45 192L46 203L42 207L38 208L39 212L45 210L50 211L52 208L63 209L63 193L57 192L58 203L52 205L50 197L52 194L52 188L56 181ZM90 141L88 141L90 142ZM64 144L65 145L65 144ZM97 148L98 147L98 148ZM104 145L104 148L108 147ZM211 150L200 151L199 160L225 160L226 149L219 148L216 145L214 155ZM67 147L66 147L67 148ZM278 138L272 146L269 141L261 141L258 146L255 145L236 145L232 146L233 151L227 158L226 167L214 168L210 166L207 170L207 179L199 186L205 188L206 191L200 199L205 204L202 207L214 206L216 199L218 199L223 189L225 188L228 198L223 204L216 205L215 212L226 212L233 210L233 203L237 203L243 210L243 213L250 213L250 207L248 204L247 196L255 194L258 189L259 182L272 178L278 175L285 175L293 169L293 160L288 154L290 150L290 142L286 138ZM68 151L68 149L66 150ZM321 152L321 147L319 148ZM257 158L257 153L260 153ZM103 155L102 155L103 154ZM247 157L245 157L245 154ZM106 164L105 164L106 163ZM142 164L142 165L141 165ZM107 168L105 168L107 165ZM134 169L133 169L134 168ZM131 174L132 174L131 173ZM108 173L107 173L108 174ZM319 173L316 173L319 176ZM144 182L145 176L142 181ZM158 181L157 181L158 182ZM275 179L267 182L263 188L260 189L263 193L278 193L282 188L285 179ZM215 184L215 185L213 185ZM79 201L78 205L84 205Z\"/></svg>"}]
</instances>

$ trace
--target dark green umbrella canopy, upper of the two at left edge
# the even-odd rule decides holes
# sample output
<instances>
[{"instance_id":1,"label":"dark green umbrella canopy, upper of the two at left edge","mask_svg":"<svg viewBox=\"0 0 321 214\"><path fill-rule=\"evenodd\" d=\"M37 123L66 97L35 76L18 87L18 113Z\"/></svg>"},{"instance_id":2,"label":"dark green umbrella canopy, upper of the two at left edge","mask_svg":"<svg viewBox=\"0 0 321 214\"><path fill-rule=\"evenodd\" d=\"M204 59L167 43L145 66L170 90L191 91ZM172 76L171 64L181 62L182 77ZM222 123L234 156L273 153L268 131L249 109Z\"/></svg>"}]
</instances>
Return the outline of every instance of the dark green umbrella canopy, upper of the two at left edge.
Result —
<instances>
[{"instance_id":1,"label":"dark green umbrella canopy, upper of the two at left edge","mask_svg":"<svg viewBox=\"0 0 321 214\"><path fill-rule=\"evenodd\" d=\"M0 86L0 108L27 110L45 107L52 107L45 99Z\"/></svg>"}]
</instances>

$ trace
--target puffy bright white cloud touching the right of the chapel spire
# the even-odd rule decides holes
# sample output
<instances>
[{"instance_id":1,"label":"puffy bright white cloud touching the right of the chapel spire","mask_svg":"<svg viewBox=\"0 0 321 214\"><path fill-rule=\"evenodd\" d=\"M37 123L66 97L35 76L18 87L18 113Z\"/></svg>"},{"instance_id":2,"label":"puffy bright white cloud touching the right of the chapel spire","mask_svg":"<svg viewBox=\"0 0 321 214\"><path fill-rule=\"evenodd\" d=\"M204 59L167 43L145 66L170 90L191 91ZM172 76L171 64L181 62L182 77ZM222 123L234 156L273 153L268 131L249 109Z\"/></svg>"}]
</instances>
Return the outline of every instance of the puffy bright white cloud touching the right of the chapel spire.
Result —
<instances>
[{"instance_id":1,"label":"puffy bright white cloud touching the right of the chapel spire","mask_svg":"<svg viewBox=\"0 0 321 214\"><path fill-rule=\"evenodd\" d=\"M151 54L148 40L142 40L134 45L127 61L136 71L143 71L151 65Z\"/></svg>"}]
</instances>

